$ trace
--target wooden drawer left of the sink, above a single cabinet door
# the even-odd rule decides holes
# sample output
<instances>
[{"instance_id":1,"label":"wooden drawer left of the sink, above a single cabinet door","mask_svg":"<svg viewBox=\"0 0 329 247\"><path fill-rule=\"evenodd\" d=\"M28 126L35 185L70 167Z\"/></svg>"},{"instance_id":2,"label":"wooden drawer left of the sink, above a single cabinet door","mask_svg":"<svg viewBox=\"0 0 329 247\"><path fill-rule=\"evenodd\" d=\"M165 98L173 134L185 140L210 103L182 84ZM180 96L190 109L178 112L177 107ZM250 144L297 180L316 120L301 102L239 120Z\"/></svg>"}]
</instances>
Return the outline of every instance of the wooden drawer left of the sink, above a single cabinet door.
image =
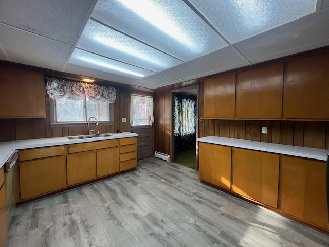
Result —
<instances>
[{"instance_id":1,"label":"wooden drawer left of the sink, above a single cabinet door","mask_svg":"<svg viewBox=\"0 0 329 247\"><path fill-rule=\"evenodd\" d=\"M64 147L34 148L19 151L19 161L34 160L35 158L45 158L64 154Z\"/></svg>"}]
</instances>

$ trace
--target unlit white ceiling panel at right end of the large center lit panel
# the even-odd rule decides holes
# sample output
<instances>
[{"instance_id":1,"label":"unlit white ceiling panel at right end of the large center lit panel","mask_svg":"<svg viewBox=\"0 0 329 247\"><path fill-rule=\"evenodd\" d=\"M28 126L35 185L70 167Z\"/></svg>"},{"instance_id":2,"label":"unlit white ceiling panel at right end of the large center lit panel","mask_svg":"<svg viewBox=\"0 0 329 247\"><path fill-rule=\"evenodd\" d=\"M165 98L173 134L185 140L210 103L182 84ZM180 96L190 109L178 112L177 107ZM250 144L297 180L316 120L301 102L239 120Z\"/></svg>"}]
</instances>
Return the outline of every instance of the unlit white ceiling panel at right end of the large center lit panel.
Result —
<instances>
[{"instance_id":1,"label":"unlit white ceiling panel at right end of the large center lit panel","mask_svg":"<svg viewBox=\"0 0 329 247\"><path fill-rule=\"evenodd\" d=\"M167 69L161 74L181 80L191 80L247 65L246 60L237 55L230 47L225 47L198 59Z\"/></svg>"}]
</instances>

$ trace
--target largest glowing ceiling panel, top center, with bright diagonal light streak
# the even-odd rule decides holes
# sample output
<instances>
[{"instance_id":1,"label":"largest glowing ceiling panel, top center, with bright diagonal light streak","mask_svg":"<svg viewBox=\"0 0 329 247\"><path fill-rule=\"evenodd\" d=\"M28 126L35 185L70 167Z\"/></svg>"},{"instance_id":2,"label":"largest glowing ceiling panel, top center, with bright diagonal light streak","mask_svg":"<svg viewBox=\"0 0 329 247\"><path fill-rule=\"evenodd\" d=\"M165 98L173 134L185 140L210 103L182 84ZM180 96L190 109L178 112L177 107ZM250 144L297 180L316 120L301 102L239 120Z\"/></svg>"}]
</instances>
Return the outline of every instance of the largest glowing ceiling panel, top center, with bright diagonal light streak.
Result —
<instances>
[{"instance_id":1,"label":"largest glowing ceiling panel, top center, with bright diagonal light streak","mask_svg":"<svg viewBox=\"0 0 329 247\"><path fill-rule=\"evenodd\" d=\"M182 61L227 46L182 1L99 0L92 17Z\"/></svg>"}]
</instances>

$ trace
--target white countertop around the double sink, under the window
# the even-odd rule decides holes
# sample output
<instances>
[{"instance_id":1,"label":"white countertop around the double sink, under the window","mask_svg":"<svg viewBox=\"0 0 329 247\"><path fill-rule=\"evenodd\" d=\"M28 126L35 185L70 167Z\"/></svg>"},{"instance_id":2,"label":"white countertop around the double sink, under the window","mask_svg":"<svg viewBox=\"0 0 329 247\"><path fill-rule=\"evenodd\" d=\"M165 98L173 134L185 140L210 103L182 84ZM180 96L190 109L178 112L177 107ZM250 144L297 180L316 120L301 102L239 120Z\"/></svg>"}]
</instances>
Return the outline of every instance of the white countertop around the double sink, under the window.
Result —
<instances>
[{"instance_id":1,"label":"white countertop around the double sink, under the window","mask_svg":"<svg viewBox=\"0 0 329 247\"><path fill-rule=\"evenodd\" d=\"M99 140L111 140L111 139L138 136L138 134L130 133L130 132L122 132L118 134L108 133L108 134L114 136L93 137L93 138L77 139L77 140L69 140L67 138L68 136L65 136L65 137L53 137L53 138L42 138L42 139L30 139L30 140L14 140L12 142L0 142L0 169L3 167L5 162L8 160L10 155L15 150L67 145L67 144L75 144L75 143L97 142Z\"/></svg>"}]
</instances>

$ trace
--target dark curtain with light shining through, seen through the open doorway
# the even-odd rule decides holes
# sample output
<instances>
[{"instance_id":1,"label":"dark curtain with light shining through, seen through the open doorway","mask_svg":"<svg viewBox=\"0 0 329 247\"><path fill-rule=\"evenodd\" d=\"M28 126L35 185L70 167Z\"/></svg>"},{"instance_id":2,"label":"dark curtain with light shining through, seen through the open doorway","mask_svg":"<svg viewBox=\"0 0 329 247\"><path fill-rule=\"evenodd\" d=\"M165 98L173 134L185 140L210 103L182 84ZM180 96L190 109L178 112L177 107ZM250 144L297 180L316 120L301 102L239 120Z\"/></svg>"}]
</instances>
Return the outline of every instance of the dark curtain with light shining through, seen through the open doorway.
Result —
<instances>
[{"instance_id":1,"label":"dark curtain with light shining through, seen through the open doorway","mask_svg":"<svg viewBox=\"0 0 329 247\"><path fill-rule=\"evenodd\" d=\"M175 151L195 146L196 98L177 95L174 98Z\"/></svg>"}]
</instances>

